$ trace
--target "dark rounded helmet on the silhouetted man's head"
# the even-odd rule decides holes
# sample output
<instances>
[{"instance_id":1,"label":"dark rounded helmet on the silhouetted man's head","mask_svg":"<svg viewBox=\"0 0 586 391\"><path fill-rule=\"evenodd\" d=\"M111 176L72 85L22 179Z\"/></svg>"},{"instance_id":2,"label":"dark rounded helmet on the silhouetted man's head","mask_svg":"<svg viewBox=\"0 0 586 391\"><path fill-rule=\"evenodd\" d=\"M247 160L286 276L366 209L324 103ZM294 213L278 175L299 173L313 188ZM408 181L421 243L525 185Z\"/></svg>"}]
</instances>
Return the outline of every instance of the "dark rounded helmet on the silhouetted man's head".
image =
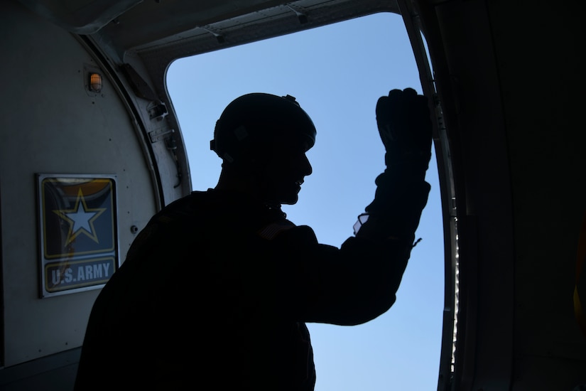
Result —
<instances>
[{"instance_id":1,"label":"dark rounded helmet on the silhouetted man's head","mask_svg":"<svg viewBox=\"0 0 586 391\"><path fill-rule=\"evenodd\" d=\"M210 149L232 163L267 154L278 137L315 144L315 126L295 97L254 92L230 102L216 122Z\"/></svg>"}]
</instances>

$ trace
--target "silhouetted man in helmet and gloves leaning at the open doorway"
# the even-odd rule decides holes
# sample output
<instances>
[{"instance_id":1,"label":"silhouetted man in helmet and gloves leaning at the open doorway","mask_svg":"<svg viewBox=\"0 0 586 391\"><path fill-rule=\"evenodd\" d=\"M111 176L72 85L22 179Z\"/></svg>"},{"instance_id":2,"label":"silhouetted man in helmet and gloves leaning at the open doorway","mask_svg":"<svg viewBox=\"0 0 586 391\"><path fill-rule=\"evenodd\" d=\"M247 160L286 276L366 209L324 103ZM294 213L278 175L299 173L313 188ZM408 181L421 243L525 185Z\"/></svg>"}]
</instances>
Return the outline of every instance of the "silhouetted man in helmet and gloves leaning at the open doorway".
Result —
<instances>
[{"instance_id":1,"label":"silhouetted man in helmet and gloves leaning at the open doorway","mask_svg":"<svg viewBox=\"0 0 586 391\"><path fill-rule=\"evenodd\" d=\"M387 168L337 248L281 211L312 172L308 114L289 95L230 103L211 143L217 186L166 206L136 237L94 303L76 390L313 390L305 323L357 325L394 304L430 190L425 97L392 90L376 119Z\"/></svg>"}]
</instances>

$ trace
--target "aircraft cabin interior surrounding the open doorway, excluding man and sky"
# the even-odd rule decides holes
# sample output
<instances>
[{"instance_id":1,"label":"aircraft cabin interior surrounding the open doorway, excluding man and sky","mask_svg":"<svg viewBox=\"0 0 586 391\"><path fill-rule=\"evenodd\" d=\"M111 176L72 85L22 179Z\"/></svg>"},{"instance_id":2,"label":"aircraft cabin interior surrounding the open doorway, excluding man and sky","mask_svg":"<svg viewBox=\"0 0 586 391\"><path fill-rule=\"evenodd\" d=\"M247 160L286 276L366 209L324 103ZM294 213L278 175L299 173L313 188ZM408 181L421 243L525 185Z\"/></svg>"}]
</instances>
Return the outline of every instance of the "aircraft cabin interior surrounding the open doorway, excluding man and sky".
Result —
<instances>
[{"instance_id":1,"label":"aircraft cabin interior surrounding the open doorway, excluding man and sky","mask_svg":"<svg viewBox=\"0 0 586 391\"><path fill-rule=\"evenodd\" d=\"M3 1L0 387L70 389L100 286L148 218L191 191L168 65L375 12L403 16L437 119L438 390L586 384L583 9L572 0Z\"/></svg>"}]
</instances>

